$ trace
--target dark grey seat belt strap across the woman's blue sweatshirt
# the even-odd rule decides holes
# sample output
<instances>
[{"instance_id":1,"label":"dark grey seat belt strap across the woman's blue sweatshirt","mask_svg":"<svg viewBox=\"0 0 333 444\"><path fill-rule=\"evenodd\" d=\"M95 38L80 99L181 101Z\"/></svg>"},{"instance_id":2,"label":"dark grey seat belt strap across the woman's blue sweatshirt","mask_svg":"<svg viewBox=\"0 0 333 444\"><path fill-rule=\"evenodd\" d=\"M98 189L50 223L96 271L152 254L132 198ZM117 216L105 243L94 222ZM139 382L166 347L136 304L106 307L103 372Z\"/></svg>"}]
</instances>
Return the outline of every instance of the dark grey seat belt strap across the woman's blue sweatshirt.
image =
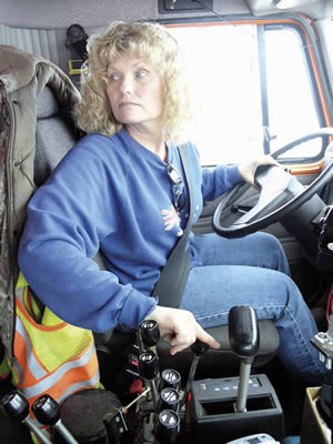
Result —
<instances>
[{"instance_id":1,"label":"dark grey seat belt strap across the woman's blue sweatshirt","mask_svg":"<svg viewBox=\"0 0 333 444\"><path fill-rule=\"evenodd\" d=\"M176 245L172 250L170 256L163 270L161 272L160 279L158 280L155 287L153 290L152 295L159 299L159 305L170 306L173 309L178 309L182 295L188 282L190 268L191 268L191 258L190 252L186 249L188 239L191 231L191 220L193 215L193 188L191 181L191 171L190 171L190 162L186 152L186 147L181 145L178 147L180 158L182 161L189 196L190 196L190 216L184 229L183 235L178 241Z\"/></svg>"}]
</instances>

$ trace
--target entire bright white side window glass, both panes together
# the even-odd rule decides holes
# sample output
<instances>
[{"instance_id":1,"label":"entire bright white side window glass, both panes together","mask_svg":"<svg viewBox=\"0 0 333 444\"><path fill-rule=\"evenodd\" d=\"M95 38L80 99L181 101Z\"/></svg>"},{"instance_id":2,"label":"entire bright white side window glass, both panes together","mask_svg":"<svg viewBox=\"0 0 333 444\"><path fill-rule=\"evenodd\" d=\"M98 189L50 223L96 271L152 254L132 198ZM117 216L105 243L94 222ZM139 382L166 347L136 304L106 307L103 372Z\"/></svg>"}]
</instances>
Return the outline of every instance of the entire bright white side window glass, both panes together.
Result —
<instances>
[{"instance_id":1,"label":"entire bright white side window glass, both panes together","mask_svg":"<svg viewBox=\"0 0 333 444\"><path fill-rule=\"evenodd\" d=\"M201 112L189 135L201 163L251 160L264 151L256 24L213 23L170 27L186 58L190 82ZM266 30L266 95L271 152L320 127L299 34L293 29ZM262 54L261 54L262 56ZM264 84L264 83L263 83ZM287 152L313 157L315 139Z\"/></svg>"}]
</instances>

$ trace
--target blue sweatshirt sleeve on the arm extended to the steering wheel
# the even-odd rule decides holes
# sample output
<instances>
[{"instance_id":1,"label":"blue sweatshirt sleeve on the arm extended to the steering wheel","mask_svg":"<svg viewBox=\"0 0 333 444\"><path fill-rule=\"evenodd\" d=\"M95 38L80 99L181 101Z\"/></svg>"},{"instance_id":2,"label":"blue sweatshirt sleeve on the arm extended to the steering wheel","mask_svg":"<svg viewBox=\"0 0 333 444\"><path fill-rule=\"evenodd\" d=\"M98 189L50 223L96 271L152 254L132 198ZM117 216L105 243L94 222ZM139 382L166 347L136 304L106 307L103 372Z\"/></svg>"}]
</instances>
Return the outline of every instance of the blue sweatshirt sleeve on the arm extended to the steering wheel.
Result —
<instances>
[{"instance_id":1,"label":"blue sweatshirt sleeve on the arm extended to the steering wheel","mask_svg":"<svg viewBox=\"0 0 333 444\"><path fill-rule=\"evenodd\" d=\"M202 195L212 201L241 181L236 165L219 165L202 169Z\"/></svg>"}]
</instances>

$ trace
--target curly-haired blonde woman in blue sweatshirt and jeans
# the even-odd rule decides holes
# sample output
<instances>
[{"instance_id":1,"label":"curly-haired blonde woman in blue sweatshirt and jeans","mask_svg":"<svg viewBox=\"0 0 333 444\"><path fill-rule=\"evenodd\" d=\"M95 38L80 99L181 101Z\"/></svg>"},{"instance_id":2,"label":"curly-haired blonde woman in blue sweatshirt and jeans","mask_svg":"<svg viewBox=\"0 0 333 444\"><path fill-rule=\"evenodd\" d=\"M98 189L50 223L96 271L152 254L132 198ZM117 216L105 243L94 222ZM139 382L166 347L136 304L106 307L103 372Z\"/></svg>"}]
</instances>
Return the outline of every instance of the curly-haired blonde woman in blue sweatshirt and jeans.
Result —
<instances>
[{"instance_id":1,"label":"curly-haired blonde woman in blue sweatshirt and jeans","mask_svg":"<svg viewBox=\"0 0 333 444\"><path fill-rule=\"evenodd\" d=\"M275 238L215 234L189 239L192 269L180 309L151 297L160 271L189 218L188 186L175 143L191 119L176 41L157 23L114 22L89 43L82 100L83 138L31 199L19 265L36 294L64 321L97 332L158 322L171 353L195 339L219 347L204 327L226 323L232 305L272 319L279 354L291 372L320 381L310 344L315 323L289 278ZM201 169L186 144L194 188L193 224L203 201L245 180L254 184L263 158L239 167ZM170 174L185 184L174 190ZM91 258L101 249L107 271ZM41 270L41 272L36 272Z\"/></svg>"}]
</instances>

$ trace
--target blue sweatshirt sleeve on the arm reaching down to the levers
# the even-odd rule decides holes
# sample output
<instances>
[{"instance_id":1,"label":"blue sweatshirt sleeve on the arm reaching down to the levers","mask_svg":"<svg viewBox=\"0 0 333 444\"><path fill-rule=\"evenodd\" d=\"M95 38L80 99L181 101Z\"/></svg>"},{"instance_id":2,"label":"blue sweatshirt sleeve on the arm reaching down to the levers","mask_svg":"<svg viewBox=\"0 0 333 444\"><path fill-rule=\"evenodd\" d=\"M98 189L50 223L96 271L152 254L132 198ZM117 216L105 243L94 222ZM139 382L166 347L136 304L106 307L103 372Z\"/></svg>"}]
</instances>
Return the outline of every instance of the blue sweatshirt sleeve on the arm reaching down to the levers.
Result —
<instances>
[{"instance_id":1,"label":"blue sweatshirt sleeve on the arm reaching down to the levers","mask_svg":"<svg viewBox=\"0 0 333 444\"><path fill-rule=\"evenodd\" d=\"M117 230L123 205L120 169L125 162L112 165L120 179L111 183L104 161L97 150L80 144L63 159L28 204L18 258L24 278L50 310L97 332L117 324L137 329L157 304L92 260L100 240Z\"/></svg>"}]
</instances>

